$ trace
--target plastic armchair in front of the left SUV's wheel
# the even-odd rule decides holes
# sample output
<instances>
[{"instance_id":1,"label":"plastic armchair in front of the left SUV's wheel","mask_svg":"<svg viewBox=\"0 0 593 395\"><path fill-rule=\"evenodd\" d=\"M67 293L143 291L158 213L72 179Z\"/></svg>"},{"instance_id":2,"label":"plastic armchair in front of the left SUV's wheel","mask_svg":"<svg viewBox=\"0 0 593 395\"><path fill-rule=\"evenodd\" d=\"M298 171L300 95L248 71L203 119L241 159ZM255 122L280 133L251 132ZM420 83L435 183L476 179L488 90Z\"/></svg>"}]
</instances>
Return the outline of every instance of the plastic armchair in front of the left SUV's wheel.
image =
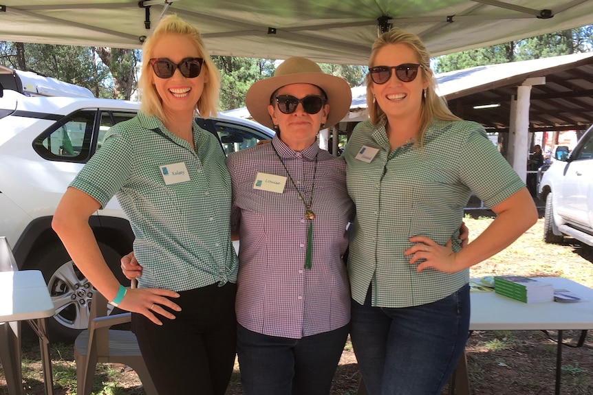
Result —
<instances>
[{"instance_id":1,"label":"plastic armchair in front of the left SUV's wheel","mask_svg":"<svg viewBox=\"0 0 593 395\"><path fill-rule=\"evenodd\" d=\"M131 330L110 329L130 322L131 313L107 315L107 300L98 291L91 302L89 328L74 341L76 384L79 395L91 394L97 363L124 363L136 371L147 395L158 395L148 372L136 335Z\"/></svg>"}]
</instances>

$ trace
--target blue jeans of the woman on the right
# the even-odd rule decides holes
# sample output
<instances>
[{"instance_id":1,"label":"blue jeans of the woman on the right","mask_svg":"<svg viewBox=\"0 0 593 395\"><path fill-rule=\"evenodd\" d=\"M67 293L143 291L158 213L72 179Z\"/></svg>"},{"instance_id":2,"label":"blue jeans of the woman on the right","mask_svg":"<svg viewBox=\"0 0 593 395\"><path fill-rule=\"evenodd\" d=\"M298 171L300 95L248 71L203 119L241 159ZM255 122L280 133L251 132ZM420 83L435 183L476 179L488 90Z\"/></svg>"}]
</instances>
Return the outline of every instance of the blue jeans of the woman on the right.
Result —
<instances>
[{"instance_id":1,"label":"blue jeans of the woman on the right","mask_svg":"<svg viewBox=\"0 0 593 395\"><path fill-rule=\"evenodd\" d=\"M406 308L352 301L350 337L369 395L438 395L455 370L469 331L469 286Z\"/></svg>"}]
</instances>

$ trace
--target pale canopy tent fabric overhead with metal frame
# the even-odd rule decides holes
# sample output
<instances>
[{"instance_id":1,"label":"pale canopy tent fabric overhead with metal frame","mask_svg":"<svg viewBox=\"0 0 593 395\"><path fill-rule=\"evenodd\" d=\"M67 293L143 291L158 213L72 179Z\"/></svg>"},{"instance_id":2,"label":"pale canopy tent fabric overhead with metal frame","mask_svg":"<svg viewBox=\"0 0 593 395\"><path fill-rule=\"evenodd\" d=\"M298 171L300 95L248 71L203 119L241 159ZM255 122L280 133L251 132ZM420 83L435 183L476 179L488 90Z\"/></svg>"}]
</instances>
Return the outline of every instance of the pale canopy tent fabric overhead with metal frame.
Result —
<instances>
[{"instance_id":1,"label":"pale canopy tent fabric overhead with metal frame","mask_svg":"<svg viewBox=\"0 0 593 395\"><path fill-rule=\"evenodd\" d=\"M211 54L363 65L380 24L438 56L590 24L593 1L0 0L0 40L139 48L170 12L200 28Z\"/></svg>"}]
</instances>

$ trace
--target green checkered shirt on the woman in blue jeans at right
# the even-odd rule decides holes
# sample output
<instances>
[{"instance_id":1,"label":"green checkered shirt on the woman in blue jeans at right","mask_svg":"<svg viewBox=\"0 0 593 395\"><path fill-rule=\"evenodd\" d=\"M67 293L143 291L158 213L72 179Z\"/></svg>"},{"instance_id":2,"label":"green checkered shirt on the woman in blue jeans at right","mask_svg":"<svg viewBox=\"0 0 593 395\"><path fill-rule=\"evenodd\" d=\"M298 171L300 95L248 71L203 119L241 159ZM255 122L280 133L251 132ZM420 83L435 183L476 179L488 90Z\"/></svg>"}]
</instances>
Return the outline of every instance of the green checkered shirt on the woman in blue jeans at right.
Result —
<instances>
[{"instance_id":1,"label":"green checkered shirt on the woman in blue jeans at right","mask_svg":"<svg viewBox=\"0 0 593 395\"><path fill-rule=\"evenodd\" d=\"M379 148L370 163L355 159L363 146ZM416 272L404 251L412 236L460 249L464 207L474 192L488 207L524 187L517 173L475 122L434 120L422 150L408 143L389 153L385 124L356 126L345 148L347 186L356 204L348 272L352 297L363 304L427 304L460 289L469 270Z\"/></svg>"}]
</instances>

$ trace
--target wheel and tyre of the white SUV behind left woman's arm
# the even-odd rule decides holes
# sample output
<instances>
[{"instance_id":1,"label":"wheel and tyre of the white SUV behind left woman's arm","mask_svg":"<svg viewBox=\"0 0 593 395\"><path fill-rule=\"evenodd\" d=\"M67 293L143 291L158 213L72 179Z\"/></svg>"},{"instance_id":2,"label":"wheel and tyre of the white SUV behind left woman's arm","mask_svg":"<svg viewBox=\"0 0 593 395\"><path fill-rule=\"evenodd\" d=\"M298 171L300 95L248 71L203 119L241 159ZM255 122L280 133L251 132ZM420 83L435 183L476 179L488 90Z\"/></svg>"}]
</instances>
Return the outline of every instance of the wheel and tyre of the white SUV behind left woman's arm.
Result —
<instances>
[{"instance_id":1,"label":"wheel and tyre of the white SUV behind left woman's arm","mask_svg":"<svg viewBox=\"0 0 593 395\"><path fill-rule=\"evenodd\" d=\"M120 269L121 254L108 245L99 242L103 257L109 264L120 284L129 285ZM81 330L89 324L90 306L93 293L92 284L78 270L66 249L61 244L54 244L37 251L31 259L28 269L38 269L50 291L56 315L48 319L50 341L72 343ZM109 305L109 313L113 310Z\"/></svg>"}]
</instances>

